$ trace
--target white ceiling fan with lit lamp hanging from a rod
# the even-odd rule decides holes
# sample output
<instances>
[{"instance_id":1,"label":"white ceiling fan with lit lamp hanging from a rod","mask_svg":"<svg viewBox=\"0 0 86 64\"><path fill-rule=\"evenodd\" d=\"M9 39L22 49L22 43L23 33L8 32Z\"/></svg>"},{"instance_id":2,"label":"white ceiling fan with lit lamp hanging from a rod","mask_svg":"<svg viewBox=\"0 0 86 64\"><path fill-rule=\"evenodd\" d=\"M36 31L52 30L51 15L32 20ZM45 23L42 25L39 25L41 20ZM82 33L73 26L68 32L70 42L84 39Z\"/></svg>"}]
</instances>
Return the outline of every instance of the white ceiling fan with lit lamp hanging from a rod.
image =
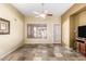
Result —
<instances>
[{"instance_id":1,"label":"white ceiling fan with lit lamp hanging from a rod","mask_svg":"<svg viewBox=\"0 0 86 64\"><path fill-rule=\"evenodd\" d=\"M41 12L37 12L34 11L33 13L36 15L36 17L42 17L46 18L47 16L52 16L52 12L50 12L49 10L44 10L44 3L41 3L42 7L42 11Z\"/></svg>"}]
</instances>

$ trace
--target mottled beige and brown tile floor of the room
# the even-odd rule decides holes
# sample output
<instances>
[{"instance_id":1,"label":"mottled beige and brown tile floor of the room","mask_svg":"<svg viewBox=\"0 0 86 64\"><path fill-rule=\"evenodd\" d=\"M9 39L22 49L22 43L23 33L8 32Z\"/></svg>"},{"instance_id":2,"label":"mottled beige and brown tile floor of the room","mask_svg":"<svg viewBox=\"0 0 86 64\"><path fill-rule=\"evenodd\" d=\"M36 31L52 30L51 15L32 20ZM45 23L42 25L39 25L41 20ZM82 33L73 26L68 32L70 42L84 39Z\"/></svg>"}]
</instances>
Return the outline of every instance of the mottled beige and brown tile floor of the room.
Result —
<instances>
[{"instance_id":1,"label":"mottled beige and brown tile floor of the room","mask_svg":"<svg viewBox=\"0 0 86 64\"><path fill-rule=\"evenodd\" d=\"M1 61L85 61L82 54L60 44L25 44Z\"/></svg>"}]
</instances>

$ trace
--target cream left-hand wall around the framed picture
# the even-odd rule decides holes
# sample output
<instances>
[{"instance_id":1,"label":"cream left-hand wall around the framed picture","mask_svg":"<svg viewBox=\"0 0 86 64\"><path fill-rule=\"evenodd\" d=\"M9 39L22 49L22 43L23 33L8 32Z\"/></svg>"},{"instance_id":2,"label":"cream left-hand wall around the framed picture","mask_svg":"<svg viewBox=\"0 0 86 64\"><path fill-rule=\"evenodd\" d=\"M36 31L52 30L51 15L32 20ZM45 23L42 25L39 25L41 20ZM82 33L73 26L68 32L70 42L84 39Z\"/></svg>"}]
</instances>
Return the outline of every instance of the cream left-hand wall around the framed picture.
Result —
<instances>
[{"instance_id":1,"label":"cream left-hand wall around the framed picture","mask_svg":"<svg viewBox=\"0 0 86 64\"><path fill-rule=\"evenodd\" d=\"M15 50L23 41L24 16L10 4L0 4L0 17L10 21L10 35L0 35L0 57Z\"/></svg>"}]
</instances>

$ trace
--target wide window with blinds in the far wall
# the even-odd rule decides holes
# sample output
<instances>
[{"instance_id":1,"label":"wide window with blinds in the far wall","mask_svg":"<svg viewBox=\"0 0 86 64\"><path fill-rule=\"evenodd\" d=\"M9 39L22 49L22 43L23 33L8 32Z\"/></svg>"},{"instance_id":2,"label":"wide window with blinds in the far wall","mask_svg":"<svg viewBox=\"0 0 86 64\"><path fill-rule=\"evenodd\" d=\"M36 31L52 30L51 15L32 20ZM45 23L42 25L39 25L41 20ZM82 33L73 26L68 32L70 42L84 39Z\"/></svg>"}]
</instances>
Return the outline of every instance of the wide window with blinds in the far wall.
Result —
<instances>
[{"instance_id":1,"label":"wide window with blinds in the far wall","mask_svg":"<svg viewBox=\"0 0 86 64\"><path fill-rule=\"evenodd\" d=\"M47 38L47 25L27 24L27 38Z\"/></svg>"}]
</instances>

